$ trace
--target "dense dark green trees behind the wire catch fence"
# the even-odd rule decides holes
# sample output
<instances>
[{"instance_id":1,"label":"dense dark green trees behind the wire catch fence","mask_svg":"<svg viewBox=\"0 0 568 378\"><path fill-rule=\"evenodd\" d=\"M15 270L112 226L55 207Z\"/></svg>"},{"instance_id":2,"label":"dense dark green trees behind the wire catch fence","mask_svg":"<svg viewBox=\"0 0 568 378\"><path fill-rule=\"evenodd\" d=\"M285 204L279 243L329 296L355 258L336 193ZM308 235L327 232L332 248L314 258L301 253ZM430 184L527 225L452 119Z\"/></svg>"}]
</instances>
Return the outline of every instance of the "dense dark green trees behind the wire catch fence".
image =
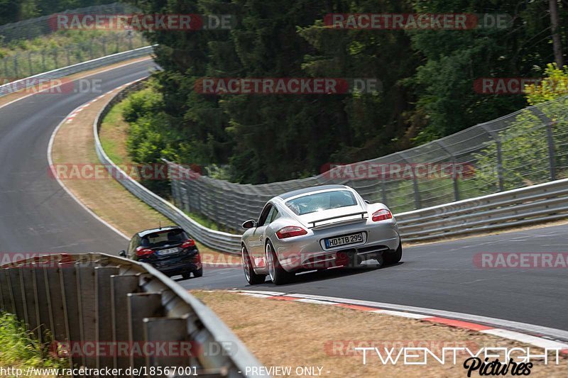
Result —
<instances>
[{"instance_id":1,"label":"dense dark green trees behind the wire catch fence","mask_svg":"<svg viewBox=\"0 0 568 378\"><path fill-rule=\"evenodd\" d=\"M233 30L146 33L159 44L155 60L164 71L154 74L156 94L136 98L125 116L133 123L129 152L134 160L167 157L229 165L230 179L242 183L307 177L327 162L387 155L511 113L525 106L522 96L478 94L474 81L535 77L553 59L542 38L550 27L543 1L131 3L145 13L231 14L238 21ZM505 30L333 30L323 25L327 13L365 12L506 13L513 23ZM203 77L368 77L380 79L383 90L205 96L194 90ZM511 179L511 185L518 182ZM468 192L481 190L478 184L460 183ZM441 194L431 184L427 192L445 198L452 196L448 188Z\"/></svg>"}]
</instances>

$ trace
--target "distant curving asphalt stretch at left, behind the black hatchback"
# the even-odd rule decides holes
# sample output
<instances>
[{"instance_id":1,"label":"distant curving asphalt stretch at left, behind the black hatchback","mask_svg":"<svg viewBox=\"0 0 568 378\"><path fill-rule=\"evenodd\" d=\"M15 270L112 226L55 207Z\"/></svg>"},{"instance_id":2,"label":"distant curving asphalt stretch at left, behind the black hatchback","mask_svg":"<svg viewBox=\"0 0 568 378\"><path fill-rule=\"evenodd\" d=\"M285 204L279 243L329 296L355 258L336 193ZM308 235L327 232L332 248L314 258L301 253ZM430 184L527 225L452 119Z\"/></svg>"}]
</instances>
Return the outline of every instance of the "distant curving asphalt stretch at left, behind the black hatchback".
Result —
<instances>
[{"instance_id":1,"label":"distant curving asphalt stretch at left, behind the black hatchback","mask_svg":"<svg viewBox=\"0 0 568 378\"><path fill-rule=\"evenodd\" d=\"M100 91L35 94L0 108L2 252L116 254L126 247L124 238L84 211L49 177L48 143L53 130L77 106L148 76L153 66L148 60L89 77Z\"/></svg>"}]
</instances>

